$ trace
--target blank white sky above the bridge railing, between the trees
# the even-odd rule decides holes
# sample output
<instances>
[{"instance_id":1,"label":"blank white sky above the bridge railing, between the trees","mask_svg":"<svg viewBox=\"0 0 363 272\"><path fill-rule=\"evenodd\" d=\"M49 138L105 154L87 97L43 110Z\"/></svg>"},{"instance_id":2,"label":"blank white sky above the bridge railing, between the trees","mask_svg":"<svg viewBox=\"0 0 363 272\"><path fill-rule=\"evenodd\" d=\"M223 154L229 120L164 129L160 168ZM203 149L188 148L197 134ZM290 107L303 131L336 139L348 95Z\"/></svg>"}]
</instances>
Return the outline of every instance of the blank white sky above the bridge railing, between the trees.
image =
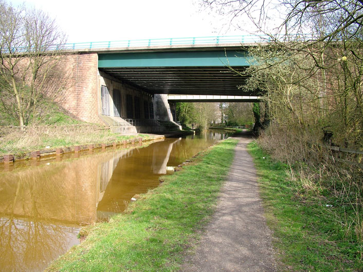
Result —
<instances>
[{"instance_id":1,"label":"blank white sky above the bridge railing, between the trees","mask_svg":"<svg viewBox=\"0 0 363 272\"><path fill-rule=\"evenodd\" d=\"M68 43L243 34L222 31L222 18L201 10L197 0L8 1L49 13Z\"/></svg>"}]
</instances>

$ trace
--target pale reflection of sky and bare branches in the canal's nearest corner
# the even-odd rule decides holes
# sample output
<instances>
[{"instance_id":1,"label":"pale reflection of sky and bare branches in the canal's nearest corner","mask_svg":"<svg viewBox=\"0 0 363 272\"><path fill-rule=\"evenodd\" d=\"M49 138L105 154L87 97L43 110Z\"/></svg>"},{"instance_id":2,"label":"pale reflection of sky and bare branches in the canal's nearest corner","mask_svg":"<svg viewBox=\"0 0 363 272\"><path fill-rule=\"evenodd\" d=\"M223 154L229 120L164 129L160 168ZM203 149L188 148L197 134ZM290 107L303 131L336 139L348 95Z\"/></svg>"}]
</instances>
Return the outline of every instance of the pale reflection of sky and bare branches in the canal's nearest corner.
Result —
<instances>
[{"instance_id":1,"label":"pale reflection of sky and bare branches in the canal's nearest corner","mask_svg":"<svg viewBox=\"0 0 363 272\"><path fill-rule=\"evenodd\" d=\"M39 271L78 244L79 226L28 221L14 217L0 219L0 267L2 271Z\"/></svg>"}]
</instances>

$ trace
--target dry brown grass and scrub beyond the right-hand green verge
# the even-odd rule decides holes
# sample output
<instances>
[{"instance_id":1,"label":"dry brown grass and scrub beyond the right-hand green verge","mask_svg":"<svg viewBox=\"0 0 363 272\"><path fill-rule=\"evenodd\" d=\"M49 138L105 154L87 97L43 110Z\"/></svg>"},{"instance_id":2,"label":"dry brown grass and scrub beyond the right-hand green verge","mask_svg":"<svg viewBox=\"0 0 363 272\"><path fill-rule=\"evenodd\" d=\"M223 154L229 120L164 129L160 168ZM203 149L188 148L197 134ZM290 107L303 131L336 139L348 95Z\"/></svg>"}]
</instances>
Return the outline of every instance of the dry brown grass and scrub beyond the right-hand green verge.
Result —
<instances>
[{"instance_id":1,"label":"dry brown grass and scrub beyond the right-hand green verge","mask_svg":"<svg viewBox=\"0 0 363 272\"><path fill-rule=\"evenodd\" d=\"M359 158L322 147L321 137L314 131L273 124L262 132L258 143L271 157L290 166L287 176L301 193L314 196L318 202L330 199L353 211L350 215L347 210L332 211L331 216L347 235L355 235L356 241L363 244L363 171L357 165L333 159L357 162Z\"/></svg>"}]
</instances>

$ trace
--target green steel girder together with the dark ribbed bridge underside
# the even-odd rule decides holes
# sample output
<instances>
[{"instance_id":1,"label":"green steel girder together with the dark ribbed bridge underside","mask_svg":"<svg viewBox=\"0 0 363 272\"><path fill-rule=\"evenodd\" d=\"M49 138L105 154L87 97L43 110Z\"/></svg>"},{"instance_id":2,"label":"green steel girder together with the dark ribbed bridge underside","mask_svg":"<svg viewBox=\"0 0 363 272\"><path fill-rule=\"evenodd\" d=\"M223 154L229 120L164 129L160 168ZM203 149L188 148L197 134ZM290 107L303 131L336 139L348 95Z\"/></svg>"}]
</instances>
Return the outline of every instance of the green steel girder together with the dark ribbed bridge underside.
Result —
<instances>
[{"instance_id":1,"label":"green steel girder together with the dark ribbed bridge underside","mask_svg":"<svg viewBox=\"0 0 363 272\"><path fill-rule=\"evenodd\" d=\"M256 95L245 92L246 51L100 53L99 70L155 94ZM233 68L234 71L231 70Z\"/></svg>"}]
</instances>

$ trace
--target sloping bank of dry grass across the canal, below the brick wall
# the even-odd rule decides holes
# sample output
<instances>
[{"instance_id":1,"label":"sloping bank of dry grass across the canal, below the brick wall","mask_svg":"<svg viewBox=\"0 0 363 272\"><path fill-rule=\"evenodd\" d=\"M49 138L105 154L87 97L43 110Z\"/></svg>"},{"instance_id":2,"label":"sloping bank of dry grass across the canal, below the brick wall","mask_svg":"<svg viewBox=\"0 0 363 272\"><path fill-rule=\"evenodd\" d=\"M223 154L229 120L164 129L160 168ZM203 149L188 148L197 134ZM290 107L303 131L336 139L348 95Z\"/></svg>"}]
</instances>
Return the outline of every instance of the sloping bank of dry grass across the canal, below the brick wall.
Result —
<instances>
[{"instance_id":1,"label":"sloping bank of dry grass across the canal, below the brick wall","mask_svg":"<svg viewBox=\"0 0 363 272\"><path fill-rule=\"evenodd\" d=\"M38 116L36 122L24 129L13 126L13 120L6 116L0 106L0 156L44 150L47 146L53 149L150 138L148 134L121 135L105 126L80 121L55 103L49 105L49 111L43 112L42 117Z\"/></svg>"}]
</instances>

